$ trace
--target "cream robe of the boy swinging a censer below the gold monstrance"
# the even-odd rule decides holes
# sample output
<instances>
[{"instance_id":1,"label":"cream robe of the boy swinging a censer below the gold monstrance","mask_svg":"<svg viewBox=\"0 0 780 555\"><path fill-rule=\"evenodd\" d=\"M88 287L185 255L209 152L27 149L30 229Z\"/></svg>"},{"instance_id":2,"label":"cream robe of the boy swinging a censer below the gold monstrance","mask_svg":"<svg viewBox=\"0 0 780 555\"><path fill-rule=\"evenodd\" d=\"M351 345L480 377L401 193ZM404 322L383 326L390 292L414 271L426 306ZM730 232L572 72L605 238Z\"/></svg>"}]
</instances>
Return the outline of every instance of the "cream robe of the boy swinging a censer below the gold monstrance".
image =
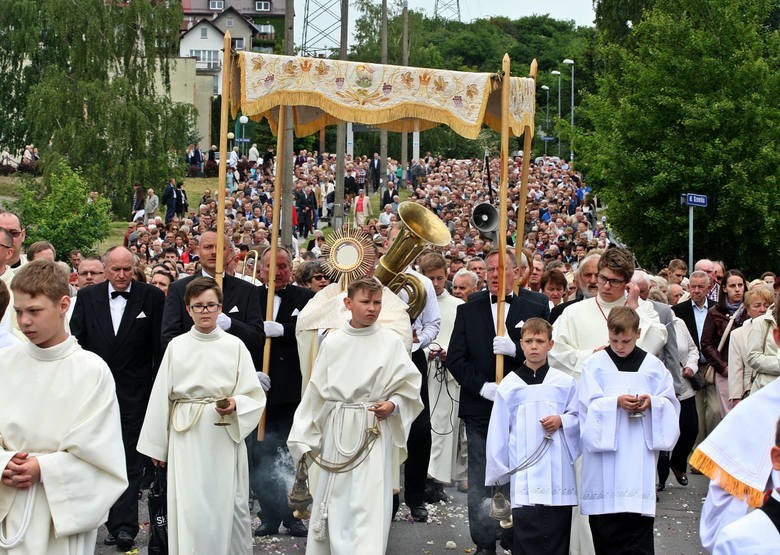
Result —
<instances>
[{"instance_id":1,"label":"cream robe of the boy swinging a censer below the gold monstrance","mask_svg":"<svg viewBox=\"0 0 780 555\"><path fill-rule=\"evenodd\" d=\"M295 411L287 440L290 455L307 452L332 463L349 460L374 426L379 436L357 456L356 468L321 470L313 485L306 553L381 555L387 548L392 510L392 450L406 458L406 439L422 411L422 376L398 335L377 324L345 323L322 342L311 380ZM390 400L396 411L377 421L367 408ZM365 455L365 457L364 457Z\"/></svg>"}]
</instances>

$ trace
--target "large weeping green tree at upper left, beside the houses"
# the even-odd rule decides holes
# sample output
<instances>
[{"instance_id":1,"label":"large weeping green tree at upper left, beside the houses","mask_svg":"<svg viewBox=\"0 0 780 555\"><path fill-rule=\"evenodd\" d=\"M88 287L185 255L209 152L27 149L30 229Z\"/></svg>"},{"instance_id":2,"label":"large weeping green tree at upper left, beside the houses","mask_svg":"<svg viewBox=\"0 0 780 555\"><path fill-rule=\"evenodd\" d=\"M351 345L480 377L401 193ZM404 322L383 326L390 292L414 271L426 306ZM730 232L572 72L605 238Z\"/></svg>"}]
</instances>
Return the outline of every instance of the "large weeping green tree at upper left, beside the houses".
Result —
<instances>
[{"instance_id":1,"label":"large weeping green tree at upper left, beside the houses","mask_svg":"<svg viewBox=\"0 0 780 555\"><path fill-rule=\"evenodd\" d=\"M158 0L6 0L0 142L35 143L126 211L132 184L181 176L193 109L174 104L181 4Z\"/></svg>"}]
</instances>

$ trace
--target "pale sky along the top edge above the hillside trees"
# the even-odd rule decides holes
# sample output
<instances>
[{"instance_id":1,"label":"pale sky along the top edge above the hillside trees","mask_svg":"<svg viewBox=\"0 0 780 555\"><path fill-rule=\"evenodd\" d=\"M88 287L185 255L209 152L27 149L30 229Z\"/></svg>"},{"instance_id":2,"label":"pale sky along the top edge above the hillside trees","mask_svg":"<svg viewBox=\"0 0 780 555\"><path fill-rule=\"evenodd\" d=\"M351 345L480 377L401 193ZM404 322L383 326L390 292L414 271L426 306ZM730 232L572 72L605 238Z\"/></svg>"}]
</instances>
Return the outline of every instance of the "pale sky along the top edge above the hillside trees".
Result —
<instances>
[{"instance_id":1,"label":"pale sky along the top edge above the hillside trees","mask_svg":"<svg viewBox=\"0 0 780 555\"><path fill-rule=\"evenodd\" d=\"M311 0L311 10L315 4L328 4L330 0ZM379 3L380 0L375 0ZM454 0L439 0L447 4ZM436 0L408 0L409 9L425 12L433 17ZM393 5L395 0L388 0ZM301 43L306 0L295 0L295 44ZM338 9L338 4L336 4ZM571 20L577 25L593 26L595 14L592 0L460 0L461 21L503 15L510 19L519 19L528 15L549 14L553 19ZM350 2L350 20L354 22L357 12ZM338 32L337 32L338 33ZM338 36L338 34L336 35Z\"/></svg>"}]
</instances>

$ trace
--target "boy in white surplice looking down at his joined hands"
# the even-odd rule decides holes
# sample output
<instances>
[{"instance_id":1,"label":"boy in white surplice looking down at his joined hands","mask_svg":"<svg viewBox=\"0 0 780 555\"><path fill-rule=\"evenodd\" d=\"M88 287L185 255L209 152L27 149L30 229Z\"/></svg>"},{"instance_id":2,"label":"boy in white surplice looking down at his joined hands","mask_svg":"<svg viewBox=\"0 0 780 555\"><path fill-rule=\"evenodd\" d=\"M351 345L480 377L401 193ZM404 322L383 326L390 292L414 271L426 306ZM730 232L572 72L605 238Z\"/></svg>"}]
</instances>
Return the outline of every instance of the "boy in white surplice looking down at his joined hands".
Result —
<instances>
[{"instance_id":1,"label":"boy in white surplice looking down at his joined hands","mask_svg":"<svg viewBox=\"0 0 780 555\"><path fill-rule=\"evenodd\" d=\"M636 347L636 311L613 308L607 328L579 383L580 511L597 554L652 555L656 461L680 435L680 404L663 363Z\"/></svg>"}]
</instances>

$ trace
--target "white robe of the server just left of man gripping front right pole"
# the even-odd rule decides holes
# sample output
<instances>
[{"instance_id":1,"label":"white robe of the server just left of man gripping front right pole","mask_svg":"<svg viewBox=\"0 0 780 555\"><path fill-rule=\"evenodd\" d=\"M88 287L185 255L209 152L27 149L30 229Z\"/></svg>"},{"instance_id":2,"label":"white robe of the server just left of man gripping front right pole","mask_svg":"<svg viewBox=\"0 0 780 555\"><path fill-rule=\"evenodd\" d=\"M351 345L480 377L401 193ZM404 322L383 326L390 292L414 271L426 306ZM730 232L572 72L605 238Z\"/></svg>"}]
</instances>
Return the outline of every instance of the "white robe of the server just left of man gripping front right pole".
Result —
<instances>
[{"instance_id":1,"label":"white robe of the server just left of man gripping front right pole","mask_svg":"<svg viewBox=\"0 0 780 555\"><path fill-rule=\"evenodd\" d=\"M455 313L463 301L442 291L436 297L441 312L441 327L434 342L445 351L450 346ZM426 349L426 355L430 349ZM438 368L437 368L438 366ZM460 385L446 369L443 360L428 362L428 399L431 407L431 457L428 476L443 483L452 481L458 457L458 399Z\"/></svg>"}]
</instances>

